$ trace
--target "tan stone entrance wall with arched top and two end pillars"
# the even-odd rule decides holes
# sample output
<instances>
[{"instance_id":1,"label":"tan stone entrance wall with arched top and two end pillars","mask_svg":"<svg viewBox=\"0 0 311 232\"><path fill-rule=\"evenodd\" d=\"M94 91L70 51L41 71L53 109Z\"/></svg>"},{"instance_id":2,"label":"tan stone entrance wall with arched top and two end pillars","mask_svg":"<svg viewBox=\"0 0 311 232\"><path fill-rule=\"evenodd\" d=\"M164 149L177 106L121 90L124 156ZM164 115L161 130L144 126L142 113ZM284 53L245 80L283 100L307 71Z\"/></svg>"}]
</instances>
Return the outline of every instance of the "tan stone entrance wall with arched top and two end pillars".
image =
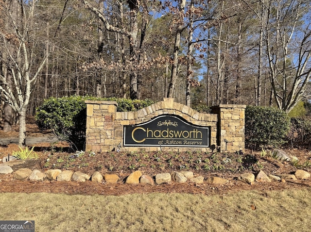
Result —
<instances>
[{"instance_id":1,"label":"tan stone entrance wall with arched top and two end pillars","mask_svg":"<svg viewBox=\"0 0 311 232\"><path fill-rule=\"evenodd\" d=\"M212 114L205 114L168 98L135 112L117 112L116 101L86 100L86 150L111 151L116 149L123 144L123 126L147 122L163 114L180 116L194 125L210 126L210 144L215 145L221 151L244 150L245 107L244 105L220 105L212 108L214 111ZM230 143L225 143L224 139ZM191 148L148 146L121 148L125 151L141 149L184 151ZM192 149L211 151L210 148Z\"/></svg>"}]
</instances>

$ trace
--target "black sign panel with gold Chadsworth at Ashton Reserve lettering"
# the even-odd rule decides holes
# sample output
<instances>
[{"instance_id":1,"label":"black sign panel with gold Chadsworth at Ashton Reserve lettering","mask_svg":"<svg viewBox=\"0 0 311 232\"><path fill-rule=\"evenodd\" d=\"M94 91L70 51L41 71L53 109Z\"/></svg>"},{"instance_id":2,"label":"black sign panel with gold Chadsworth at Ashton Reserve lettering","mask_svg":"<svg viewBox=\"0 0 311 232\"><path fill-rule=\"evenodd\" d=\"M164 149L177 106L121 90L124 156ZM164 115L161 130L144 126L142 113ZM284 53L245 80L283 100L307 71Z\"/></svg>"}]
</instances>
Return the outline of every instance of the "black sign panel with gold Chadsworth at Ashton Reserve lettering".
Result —
<instances>
[{"instance_id":1,"label":"black sign panel with gold Chadsworth at Ashton Reserve lettering","mask_svg":"<svg viewBox=\"0 0 311 232\"><path fill-rule=\"evenodd\" d=\"M162 115L133 126L124 126L123 146L209 147L210 127Z\"/></svg>"}]
</instances>

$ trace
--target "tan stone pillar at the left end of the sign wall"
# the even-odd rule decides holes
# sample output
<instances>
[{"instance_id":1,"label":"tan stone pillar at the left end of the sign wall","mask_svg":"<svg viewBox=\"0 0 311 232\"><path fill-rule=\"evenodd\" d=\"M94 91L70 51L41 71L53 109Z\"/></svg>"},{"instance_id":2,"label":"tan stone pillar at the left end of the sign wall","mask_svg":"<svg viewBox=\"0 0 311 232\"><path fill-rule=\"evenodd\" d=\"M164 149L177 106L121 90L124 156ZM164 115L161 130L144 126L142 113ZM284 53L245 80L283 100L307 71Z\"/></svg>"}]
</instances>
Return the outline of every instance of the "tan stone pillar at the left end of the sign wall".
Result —
<instances>
[{"instance_id":1,"label":"tan stone pillar at the left end of the sign wall","mask_svg":"<svg viewBox=\"0 0 311 232\"><path fill-rule=\"evenodd\" d=\"M116 101L86 100L86 151L112 150L115 144Z\"/></svg>"}]
</instances>

